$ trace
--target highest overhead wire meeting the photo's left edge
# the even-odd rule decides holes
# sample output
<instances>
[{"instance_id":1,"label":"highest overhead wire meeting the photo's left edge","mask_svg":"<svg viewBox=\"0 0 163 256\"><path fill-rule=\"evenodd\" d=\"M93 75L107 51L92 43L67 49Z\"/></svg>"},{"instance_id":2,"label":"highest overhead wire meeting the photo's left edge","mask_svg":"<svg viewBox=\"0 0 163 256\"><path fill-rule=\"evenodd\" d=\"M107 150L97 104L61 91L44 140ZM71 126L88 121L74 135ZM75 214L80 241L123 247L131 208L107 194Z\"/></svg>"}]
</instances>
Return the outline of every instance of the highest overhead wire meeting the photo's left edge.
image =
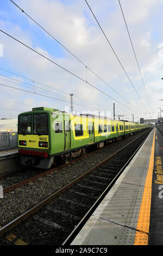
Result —
<instances>
[{"instance_id":1,"label":"highest overhead wire meeting the photo's left edge","mask_svg":"<svg viewBox=\"0 0 163 256\"><path fill-rule=\"evenodd\" d=\"M131 109L131 108L129 108L128 106L126 106L126 105L124 105L123 103L121 103L120 101L117 101L116 99L114 99L114 98L111 97L110 95L104 93L101 89L98 89L97 87L93 86L91 83L85 81L82 77L77 76L77 75L74 74L73 72L71 72L71 71L65 69L63 66L57 64L56 62L54 62L53 60L51 60L51 59L49 59L48 57L44 56L44 55L41 54L40 52L37 52L37 51L34 50L32 47L29 47L28 45L24 44L24 43L21 42L20 40L14 38L14 36L9 35L8 33L4 32L2 29L0 29L0 31L1 31L2 33L4 33L5 35L9 36L10 38L14 39L15 41L19 42L19 43L22 44L23 46L26 46L27 48L29 48L29 49L32 50L33 52L39 54L41 57L43 57L43 58L49 60L49 62L52 62L53 64L57 65L59 68L61 68L61 69L65 70L65 71L67 71L69 74L71 74L71 75L73 75L74 77L78 78L80 81L83 81L84 83L89 84L89 86L91 86L92 88L98 90L99 92L103 93L104 95L110 97L110 99L116 101L117 103L120 103L122 106L124 106L124 107L130 109L131 111L134 111L133 109ZM136 112L136 111L134 111L134 112Z\"/></svg>"}]
</instances>

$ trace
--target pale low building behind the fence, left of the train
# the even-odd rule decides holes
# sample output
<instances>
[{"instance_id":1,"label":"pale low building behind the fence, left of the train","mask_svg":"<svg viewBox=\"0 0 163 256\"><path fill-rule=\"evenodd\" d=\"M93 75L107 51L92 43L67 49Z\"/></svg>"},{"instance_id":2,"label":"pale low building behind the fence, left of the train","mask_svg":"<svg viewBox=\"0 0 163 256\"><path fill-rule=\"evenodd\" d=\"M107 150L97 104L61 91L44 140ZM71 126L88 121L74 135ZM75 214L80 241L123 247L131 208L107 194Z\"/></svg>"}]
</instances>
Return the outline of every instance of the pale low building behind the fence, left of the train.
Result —
<instances>
[{"instance_id":1,"label":"pale low building behind the fence, left of the train","mask_svg":"<svg viewBox=\"0 0 163 256\"><path fill-rule=\"evenodd\" d=\"M0 131L17 132L17 118L1 119Z\"/></svg>"}]
</instances>

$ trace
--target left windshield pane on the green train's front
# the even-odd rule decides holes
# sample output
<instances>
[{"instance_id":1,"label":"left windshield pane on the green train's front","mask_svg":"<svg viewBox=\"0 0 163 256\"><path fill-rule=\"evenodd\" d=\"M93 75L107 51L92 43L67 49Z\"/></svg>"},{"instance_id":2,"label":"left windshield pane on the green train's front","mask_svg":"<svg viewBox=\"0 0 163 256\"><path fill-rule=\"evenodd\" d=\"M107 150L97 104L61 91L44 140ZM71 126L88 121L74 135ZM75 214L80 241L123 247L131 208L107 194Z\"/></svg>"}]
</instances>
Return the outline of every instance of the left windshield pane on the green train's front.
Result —
<instances>
[{"instance_id":1,"label":"left windshield pane on the green train's front","mask_svg":"<svg viewBox=\"0 0 163 256\"><path fill-rule=\"evenodd\" d=\"M31 115L20 115L19 134L31 134Z\"/></svg>"}]
</instances>

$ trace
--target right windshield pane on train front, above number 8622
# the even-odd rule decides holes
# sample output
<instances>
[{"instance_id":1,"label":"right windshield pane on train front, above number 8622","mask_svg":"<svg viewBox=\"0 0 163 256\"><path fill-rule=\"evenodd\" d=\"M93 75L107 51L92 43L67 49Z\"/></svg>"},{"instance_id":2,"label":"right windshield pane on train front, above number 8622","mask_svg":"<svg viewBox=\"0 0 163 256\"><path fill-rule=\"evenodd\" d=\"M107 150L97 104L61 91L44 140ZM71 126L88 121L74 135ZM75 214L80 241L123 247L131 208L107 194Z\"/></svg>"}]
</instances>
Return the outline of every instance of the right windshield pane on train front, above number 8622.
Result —
<instances>
[{"instance_id":1,"label":"right windshield pane on train front, above number 8622","mask_svg":"<svg viewBox=\"0 0 163 256\"><path fill-rule=\"evenodd\" d=\"M48 135L47 114L34 114L34 134Z\"/></svg>"}]
</instances>

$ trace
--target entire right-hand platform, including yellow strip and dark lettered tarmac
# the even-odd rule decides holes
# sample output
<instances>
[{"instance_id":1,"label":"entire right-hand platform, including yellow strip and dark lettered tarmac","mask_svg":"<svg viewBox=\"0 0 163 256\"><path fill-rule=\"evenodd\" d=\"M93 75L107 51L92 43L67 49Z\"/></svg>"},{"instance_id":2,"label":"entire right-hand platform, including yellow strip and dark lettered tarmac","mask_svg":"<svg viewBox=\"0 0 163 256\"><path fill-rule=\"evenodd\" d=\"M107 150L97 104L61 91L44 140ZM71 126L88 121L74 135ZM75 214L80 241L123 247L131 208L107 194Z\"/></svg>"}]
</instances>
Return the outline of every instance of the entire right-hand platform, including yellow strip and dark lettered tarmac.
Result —
<instances>
[{"instance_id":1,"label":"entire right-hand platform, including yellow strip and dark lettered tarmac","mask_svg":"<svg viewBox=\"0 0 163 256\"><path fill-rule=\"evenodd\" d=\"M71 245L163 245L162 162L154 128Z\"/></svg>"}]
</instances>

